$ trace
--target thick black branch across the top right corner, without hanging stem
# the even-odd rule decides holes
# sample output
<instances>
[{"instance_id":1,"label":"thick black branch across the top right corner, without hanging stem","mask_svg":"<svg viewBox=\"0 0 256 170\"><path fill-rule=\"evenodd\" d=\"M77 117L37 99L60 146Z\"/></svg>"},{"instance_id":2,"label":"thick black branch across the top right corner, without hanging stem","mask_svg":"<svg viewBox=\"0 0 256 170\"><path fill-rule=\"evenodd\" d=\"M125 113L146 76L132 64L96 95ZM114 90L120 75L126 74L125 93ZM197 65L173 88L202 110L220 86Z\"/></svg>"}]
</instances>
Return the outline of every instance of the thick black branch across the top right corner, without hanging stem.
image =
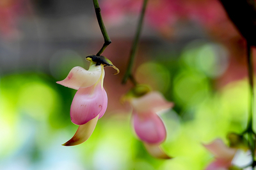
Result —
<instances>
[{"instance_id":1,"label":"thick black branch across the top right corner, without hanging stem","mask_svg":"<svg viewBox=\"0 0 256 170\"><path fill-rule=\"evenodd\" d=\"M256 7L254 0L220 0L228 17L250 45L256 46Z\"/></svg>"}]
</instances>

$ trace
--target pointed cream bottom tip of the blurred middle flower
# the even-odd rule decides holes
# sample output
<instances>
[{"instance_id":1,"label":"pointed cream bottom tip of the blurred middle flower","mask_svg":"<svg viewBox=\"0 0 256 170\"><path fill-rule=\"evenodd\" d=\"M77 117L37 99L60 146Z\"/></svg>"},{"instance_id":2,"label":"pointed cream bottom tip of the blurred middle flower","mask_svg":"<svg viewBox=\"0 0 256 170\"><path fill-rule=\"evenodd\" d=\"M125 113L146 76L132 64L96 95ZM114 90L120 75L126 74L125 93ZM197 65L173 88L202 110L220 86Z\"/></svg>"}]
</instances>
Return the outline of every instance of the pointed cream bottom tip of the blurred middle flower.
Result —
<instances>
[{"instance_id":1,"label":"pointed cream bottom tip of the blurred middle flower","mask_svg":"<svg viewBox=\"0 0 256 170\"><path fill-rule=\"evenodd\" d=\"M152 155L152 157L163 158L163 159L172 158L172 157L169 157L166 153L164 153L163 149L158 144L144 143L144 146L148 151L148 153Z\"/></svg>"}]
</instances>

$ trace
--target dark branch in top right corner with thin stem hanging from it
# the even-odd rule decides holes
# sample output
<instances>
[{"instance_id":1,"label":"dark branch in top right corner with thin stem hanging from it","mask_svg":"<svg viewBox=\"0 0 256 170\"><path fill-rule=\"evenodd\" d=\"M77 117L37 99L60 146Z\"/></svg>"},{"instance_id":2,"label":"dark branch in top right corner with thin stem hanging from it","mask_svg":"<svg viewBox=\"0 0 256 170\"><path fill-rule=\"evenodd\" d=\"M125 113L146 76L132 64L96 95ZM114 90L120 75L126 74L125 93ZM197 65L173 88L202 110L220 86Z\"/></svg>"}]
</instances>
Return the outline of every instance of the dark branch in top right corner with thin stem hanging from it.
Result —
<instances>
[{"instance_id":1,"label":"dark branch in top right corner with thin stem hanging from it","mask_svg":"<svg viewBox=\"0 0 256 170\"><path fill-rule=\"evenodd\" d=\"M228 17L237 27L247 42L247 63L248 78L250 84L250 99L248 109L248 124L243 134L248 134L248 146L252 153L252 167L256 166L255 161L255 137L253 130L254 114L254 89L253 89L253 61L252 46L256 46L256 6L254 0L220 0L225 8Z\"/></svg>"}]
</instances>

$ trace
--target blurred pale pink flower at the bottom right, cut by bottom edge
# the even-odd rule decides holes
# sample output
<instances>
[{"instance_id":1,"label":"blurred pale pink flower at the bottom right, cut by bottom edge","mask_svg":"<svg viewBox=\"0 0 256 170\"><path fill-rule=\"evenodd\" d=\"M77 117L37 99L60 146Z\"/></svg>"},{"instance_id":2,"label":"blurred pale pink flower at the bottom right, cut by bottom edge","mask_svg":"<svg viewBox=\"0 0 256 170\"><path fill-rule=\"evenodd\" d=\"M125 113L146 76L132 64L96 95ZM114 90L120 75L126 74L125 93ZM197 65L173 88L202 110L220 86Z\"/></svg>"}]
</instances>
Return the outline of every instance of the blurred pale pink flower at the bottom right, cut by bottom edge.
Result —
<instances>
[{"instance_id":1,"label":"blurred pale pink flower at the bottom right, cut by bottom edge","mask_svg":"<svg viewBox=\"0 0 256 170\"><path fill-rule=\"evenodd\" d=\"M225 170L232 166L231 162L236 155L237 149L229 148L221 139L215 139L204 147L214 155L214 162L209 164L205 170Z\"/></svg>"}]
</instances>

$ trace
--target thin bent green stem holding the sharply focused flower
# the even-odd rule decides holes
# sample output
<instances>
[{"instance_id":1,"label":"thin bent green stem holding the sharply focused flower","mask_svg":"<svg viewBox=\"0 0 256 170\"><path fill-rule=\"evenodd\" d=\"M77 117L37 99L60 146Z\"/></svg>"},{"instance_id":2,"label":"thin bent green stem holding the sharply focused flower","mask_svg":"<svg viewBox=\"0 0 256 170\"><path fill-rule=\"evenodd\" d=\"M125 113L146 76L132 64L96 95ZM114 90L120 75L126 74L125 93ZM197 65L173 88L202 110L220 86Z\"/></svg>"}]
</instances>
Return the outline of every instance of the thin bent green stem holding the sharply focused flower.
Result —
<instances>
[{"instance_id":1,"label":"thin bent green stem holding the sharply focused flower","mask_svg":"<svg viewBox=\"0 0 256 170\"><path fill-rule=\"evenodd\" d=\"M104 22L102 20L101 14L100 14L100 6L98 3L98 0L93 0L93 5L95 8L95 13L96 13L96 17L100 26L100 31L104 37L104 44L102 46L102 48L99 50L99 52L96 54L96 56L100 56L100 54L102 54L102 52L106 49L106 47L108 47L108 45L111 43L111 40L108 36L106 27L104 26Z\"/></svg>"}]
</instances>

